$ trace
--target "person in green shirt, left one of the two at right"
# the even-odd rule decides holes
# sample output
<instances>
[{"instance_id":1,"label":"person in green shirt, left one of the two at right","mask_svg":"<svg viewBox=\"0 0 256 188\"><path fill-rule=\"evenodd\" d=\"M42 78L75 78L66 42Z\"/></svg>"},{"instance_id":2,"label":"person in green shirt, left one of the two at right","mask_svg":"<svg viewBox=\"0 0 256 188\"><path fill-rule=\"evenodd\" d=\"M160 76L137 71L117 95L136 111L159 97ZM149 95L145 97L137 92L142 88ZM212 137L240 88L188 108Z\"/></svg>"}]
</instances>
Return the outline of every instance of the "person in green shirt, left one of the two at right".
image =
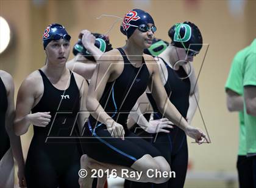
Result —
<instances>
[{"instance_id":1,"label":"person in green shirt, left one of the two at right","mask_svg":"<svg viewBox=\"0 0 256 188\"><path fill-rule=\"evenodd\" d=\"M243 102L243 65L246 61L251 46L247 46L240 52L236 53L233 58L229 76L226 82L227 109L230 112L239 112L240 134L238 159L236 167L238 169L238 177L240 187L253 186L252 158L247 158L246 150L246 127L244 125L244 102Z\"/></svg>"}]
</instances>

